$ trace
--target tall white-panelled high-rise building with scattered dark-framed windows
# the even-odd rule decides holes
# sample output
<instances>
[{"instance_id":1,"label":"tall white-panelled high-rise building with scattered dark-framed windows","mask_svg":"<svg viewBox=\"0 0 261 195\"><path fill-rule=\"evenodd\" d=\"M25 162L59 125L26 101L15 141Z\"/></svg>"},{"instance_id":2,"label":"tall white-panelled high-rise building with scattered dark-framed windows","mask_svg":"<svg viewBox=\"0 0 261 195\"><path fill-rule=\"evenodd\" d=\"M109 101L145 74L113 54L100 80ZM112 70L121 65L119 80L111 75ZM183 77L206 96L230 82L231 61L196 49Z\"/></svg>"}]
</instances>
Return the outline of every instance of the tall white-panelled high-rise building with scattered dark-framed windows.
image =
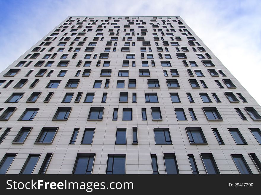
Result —
<instances>
[{"instance_id":1,"label":"tall white-panelled high-rise building with scattered dark-framed windows","mask_svg":"<svg viewBox=\"0 0 261 195\"><path fill-rule=\"evenodd\" d=\"M260 105L180 17L68 17L0 77L1 174L260 174Z\"/></svg>"}]
</instances>

